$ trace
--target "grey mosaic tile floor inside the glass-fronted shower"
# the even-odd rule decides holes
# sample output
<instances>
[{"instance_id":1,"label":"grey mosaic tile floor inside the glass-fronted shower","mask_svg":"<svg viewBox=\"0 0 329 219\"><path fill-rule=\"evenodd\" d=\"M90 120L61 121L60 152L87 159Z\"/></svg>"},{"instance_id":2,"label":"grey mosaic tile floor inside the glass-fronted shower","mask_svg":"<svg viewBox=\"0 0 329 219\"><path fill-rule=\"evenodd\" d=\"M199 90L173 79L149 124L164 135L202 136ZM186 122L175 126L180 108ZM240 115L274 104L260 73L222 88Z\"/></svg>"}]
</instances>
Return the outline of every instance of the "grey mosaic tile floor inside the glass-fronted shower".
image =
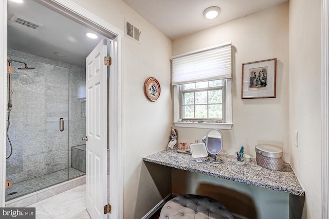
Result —
<instances>
[{"instance_id":1,"label":"grey mosaic tile floor inside the glass-fronted shower","mask_svg":"<svg viewBox=\"0 0 329 219\"><path fill-rule=\"evenodd\" d=\"M85 173L74 168L69 168L69 178L74 178L83 174ZM59 184L64 181L67 181L67 169L49 173L33 179L28 179L22 182L17 182L16 184L14 183L12 188L6 190L6 201ZM13 192L16 193L9 195Z\"/></svg>"}]
</instances>

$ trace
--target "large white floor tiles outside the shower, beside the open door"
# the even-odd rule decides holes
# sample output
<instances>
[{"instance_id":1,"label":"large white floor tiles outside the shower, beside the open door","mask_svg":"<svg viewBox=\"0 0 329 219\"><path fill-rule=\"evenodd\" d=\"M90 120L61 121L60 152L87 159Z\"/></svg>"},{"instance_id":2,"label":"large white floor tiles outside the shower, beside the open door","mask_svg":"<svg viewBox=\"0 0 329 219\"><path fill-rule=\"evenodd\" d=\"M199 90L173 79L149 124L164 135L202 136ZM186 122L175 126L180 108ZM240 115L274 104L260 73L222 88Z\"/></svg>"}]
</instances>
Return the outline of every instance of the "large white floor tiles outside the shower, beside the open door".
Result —
<instances>
[{"instance_id":1,"label":"large white floor tiles outside the shower, beside the open door","mask_svg":"<svg viewBox=\"0 0 329 219\"><path fill-rule=\"evenodd\" d=\"M83 184L26 207L35 208L36 219L89 219L85 198Z\"/></svg>"}]
</instances>

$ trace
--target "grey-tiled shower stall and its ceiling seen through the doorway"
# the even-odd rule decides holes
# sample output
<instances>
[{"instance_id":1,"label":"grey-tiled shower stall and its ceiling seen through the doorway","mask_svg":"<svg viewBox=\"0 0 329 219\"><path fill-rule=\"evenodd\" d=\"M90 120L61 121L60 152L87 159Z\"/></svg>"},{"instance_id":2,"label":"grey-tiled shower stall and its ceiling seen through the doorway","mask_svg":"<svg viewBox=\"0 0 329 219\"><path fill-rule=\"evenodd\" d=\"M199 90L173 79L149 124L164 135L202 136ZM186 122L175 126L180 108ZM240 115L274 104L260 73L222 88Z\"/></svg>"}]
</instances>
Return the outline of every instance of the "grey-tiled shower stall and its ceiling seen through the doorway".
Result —
<instances>
[{"instance_id":1,"label":"grey-tiled shower stall and its ceiling seen through the doorway","mask_svg":"<svg viewBox=\"0 0 329 219\"><path fill-rule=\"evenodd\" d=\"M32 0L8 1L7 29L6 201L85 174L85 58L99 41Z\"/></svg>"}]
</instances>

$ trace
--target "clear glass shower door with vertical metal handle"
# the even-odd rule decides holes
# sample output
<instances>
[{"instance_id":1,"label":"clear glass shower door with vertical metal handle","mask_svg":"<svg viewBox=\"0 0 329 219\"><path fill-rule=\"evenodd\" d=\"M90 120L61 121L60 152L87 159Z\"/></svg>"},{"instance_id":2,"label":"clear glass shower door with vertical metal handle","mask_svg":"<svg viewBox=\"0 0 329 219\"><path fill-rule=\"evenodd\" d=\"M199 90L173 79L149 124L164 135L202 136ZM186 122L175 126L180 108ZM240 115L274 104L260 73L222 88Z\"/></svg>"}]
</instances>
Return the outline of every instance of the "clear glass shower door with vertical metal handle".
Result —
<instances>
[{"instance_id":1,"label":"clear glass shower door with vertical metal handle","mask_svg":"<svg viewBox=\"0 0 329 219\"><path fill-rule=\"evenodd\" d=\"M6 180L13 186L6 190L6 200L68 180L69 147L69 69L44 63L40 57L8 56L35 69L18 69L22 64L12 62L8 130L12 156L6 160Z\"/></svg>"}]
</instances>

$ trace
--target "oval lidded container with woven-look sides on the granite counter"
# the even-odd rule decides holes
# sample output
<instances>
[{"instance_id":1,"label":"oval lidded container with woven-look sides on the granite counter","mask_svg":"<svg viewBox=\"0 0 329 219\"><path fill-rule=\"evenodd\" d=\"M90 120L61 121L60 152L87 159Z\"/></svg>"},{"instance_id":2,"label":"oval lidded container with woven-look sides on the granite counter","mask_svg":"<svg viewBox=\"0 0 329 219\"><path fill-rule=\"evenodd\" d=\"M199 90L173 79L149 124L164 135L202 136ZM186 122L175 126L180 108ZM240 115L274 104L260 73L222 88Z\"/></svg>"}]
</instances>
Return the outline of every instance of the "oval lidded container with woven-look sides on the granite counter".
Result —
<instances>
[{"instance_id":1,"label":"oval lidded container with woven-look sides on the granite counter","mask_svg":"<svg viewBox=\"0 0 329 219\"><path fill-rule=\"evenodd\" d=\"M283 169L283 152L280 148L269 144L255 145L257 165L270 170Z\"/></svg>"}]
</instances>

